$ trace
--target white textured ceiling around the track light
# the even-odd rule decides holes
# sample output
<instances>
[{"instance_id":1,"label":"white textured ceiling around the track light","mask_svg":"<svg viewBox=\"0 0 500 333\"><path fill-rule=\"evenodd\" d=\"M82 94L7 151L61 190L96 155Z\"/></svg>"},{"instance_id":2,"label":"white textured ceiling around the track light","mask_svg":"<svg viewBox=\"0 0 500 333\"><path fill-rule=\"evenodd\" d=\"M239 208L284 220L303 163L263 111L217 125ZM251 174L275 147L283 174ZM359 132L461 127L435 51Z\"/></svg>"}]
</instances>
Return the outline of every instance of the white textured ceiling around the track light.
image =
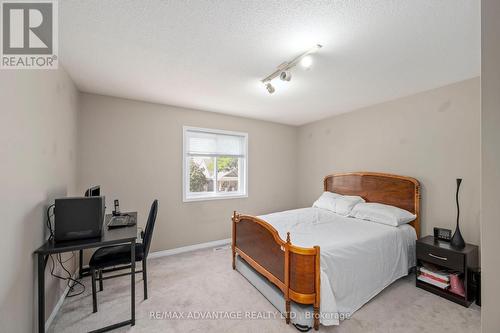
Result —
<instances>
[{"instance_id":1,"label":"white textured ceiling around the track light","mask_svg":"<svg viewBox=\"0 0 500 333\"><path fill-rule=\"evenodd\" d=\"M479 0L60 0L81 91L301 125L480 74ZM316 43L309 71L260 79Z\"/></svg>"}]
</instances>

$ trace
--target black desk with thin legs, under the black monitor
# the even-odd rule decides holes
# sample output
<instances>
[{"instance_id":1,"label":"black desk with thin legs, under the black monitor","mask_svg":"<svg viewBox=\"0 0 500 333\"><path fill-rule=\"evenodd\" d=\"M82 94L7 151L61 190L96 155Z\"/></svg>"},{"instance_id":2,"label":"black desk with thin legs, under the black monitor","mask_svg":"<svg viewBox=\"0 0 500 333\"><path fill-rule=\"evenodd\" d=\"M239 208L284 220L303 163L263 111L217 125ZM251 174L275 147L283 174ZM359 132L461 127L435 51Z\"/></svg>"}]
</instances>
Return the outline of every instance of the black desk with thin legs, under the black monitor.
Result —
<instances>
[{"instance_id":1,"label":"black desk with thin legs, under the black monitor","mask_svg":"<svg viewBox=\"0 0 500 333\"><path fill-rule=\"evenodd\" d=\"M130 215L135 215L137 221L137 212L128 213ZM107 218L106 218L107 221ZM90 238L82 239L76 241L67 242L54 242L49 240L40 246L35 254L38 258L38 332L45 332L45 266L47 264L47 259L49 254L57 254L63 252L78 251L84 249L91 249L96 247L117 245L130 243L130 258L132 274L130 275L130 312L131 316L129 320L122 321L110 326L103 327L101 329L92 332L106 332L112 329L126 326L135 325L135 242L137 239L137 224L130 227L108 229L106 225L103 225L102 235L100 238Z\"/></svg>"}]
</instances>

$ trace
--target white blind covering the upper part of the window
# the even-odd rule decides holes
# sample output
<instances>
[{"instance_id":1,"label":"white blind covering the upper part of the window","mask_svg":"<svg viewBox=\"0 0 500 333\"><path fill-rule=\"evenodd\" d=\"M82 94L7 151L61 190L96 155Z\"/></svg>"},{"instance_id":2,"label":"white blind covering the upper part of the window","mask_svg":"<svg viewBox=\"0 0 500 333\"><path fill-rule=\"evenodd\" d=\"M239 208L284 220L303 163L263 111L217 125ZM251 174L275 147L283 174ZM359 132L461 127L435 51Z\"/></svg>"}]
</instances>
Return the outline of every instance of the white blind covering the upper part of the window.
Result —
<instances>
[{"instance_id":1,"label":"white blind covering the upper part of the window","mask_svg":"<svg viewBox=\"0 0 500 333\"><path fill-rule=\"evenodd\" d=\"M245 156L245 137L200 130L187 130L187 153L205 156Z\"/></svg>"}]
</instances>

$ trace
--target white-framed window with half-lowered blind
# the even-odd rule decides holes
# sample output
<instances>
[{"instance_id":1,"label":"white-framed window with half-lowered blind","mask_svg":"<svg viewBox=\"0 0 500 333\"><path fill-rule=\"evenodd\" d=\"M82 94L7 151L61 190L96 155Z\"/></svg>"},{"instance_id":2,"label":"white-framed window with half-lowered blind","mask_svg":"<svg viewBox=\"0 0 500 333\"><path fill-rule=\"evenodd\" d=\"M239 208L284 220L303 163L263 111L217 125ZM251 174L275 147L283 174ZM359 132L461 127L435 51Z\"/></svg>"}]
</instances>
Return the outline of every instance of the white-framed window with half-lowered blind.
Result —
<instances>
[{"instance_id":1,"label":"white-framed window with half-lowered blind","mask_svg":"<svg viewBox=\"0 0 500 333\"><path fill-rule=\"evenodd\" d=\"M184 127L183 200L247 196L248 134Z\"/></svg>"}]
</instances>

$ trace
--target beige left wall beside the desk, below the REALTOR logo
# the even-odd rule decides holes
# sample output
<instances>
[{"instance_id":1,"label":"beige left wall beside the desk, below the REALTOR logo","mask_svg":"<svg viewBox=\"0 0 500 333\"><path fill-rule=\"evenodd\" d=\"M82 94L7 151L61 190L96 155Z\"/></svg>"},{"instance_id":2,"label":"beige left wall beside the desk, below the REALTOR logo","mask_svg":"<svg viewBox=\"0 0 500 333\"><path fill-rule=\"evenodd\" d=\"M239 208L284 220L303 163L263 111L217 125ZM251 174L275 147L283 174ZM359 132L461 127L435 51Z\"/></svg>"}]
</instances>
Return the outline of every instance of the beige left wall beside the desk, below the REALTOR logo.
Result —
<instances>
[{"instance_id":1,"label":"beige left wall beside the desk, below the REALTOR logo","mask_svg":"<svg viewBox=\"0 0 500 333\"><path fill-rule=\"evenodd\" d=\"M62 69L2 70L0 101L0 330L24 333L36 331L45 210L75 189L78 93ZM65 285L46 275L49 316Z\"/></svg>"}]
</instances>

